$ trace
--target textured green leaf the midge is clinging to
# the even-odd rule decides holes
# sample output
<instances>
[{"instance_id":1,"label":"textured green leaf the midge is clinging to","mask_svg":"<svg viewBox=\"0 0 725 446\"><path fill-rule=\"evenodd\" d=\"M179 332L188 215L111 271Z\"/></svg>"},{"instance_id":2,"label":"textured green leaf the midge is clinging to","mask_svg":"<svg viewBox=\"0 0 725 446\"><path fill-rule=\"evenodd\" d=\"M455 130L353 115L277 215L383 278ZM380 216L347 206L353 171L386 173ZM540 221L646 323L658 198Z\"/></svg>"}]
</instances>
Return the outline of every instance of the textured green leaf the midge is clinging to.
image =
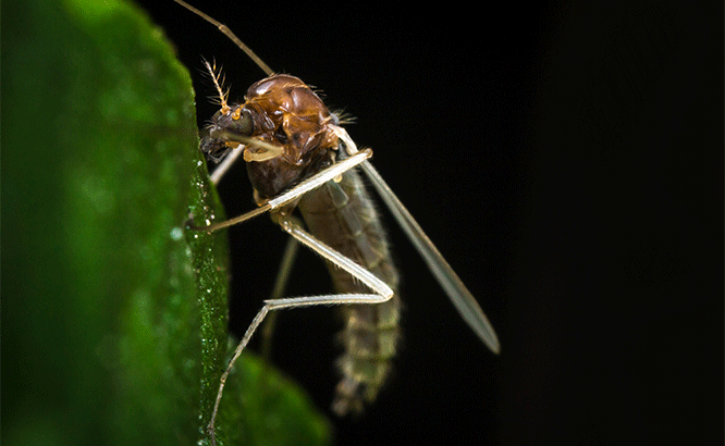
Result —
<instances>
[{"instance_id":1,"label":"textured green leaf the midge is clinging to","mask_svg":"<svg viewBox=\"0 0 725 446\"><path fill-rule=\"evenodd\" d=\"M226 240L194 91L163 33L112 0L2 4L2 442L198 444L228 358ZM225 444L325 444L243 357Z\"/></svg>"}]
</instances>

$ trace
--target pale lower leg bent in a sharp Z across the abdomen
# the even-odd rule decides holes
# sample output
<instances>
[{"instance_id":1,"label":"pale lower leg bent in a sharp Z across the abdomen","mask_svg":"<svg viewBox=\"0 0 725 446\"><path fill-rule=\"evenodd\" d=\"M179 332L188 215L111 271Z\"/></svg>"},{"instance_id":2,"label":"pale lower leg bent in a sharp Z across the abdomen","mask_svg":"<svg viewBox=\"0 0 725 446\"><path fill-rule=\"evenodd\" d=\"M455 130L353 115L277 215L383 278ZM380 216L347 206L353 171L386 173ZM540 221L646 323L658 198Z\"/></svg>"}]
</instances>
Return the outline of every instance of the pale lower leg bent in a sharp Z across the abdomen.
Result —
<instances>
[{"instance_id":1,"label":"pale lower leg bent in a sharp Z across the abdomen","mask_svg":"<svg viewBox=\"0 0 725 446\"><path fill-rule=\"evenodd\" d=\"M312 235L303 230L302 224L297 219L293 216L283 216L280 215L278 222L282 228L292 235L297 241L305 245L306 247L312 249L315 252L319 253L327 260L331 261L335 265L342 268L343 270L351 273L357 280L362 282L365 285L370 287L376 294L342 294L342 295L323 295L323 296L306 296L306 297L291 297L284 299L270 299L265 300L265 306L259 310L255 319L251 321L251 324L247 329L242 342L234 350L234 356L226 366L226 370L222 373L219 384L219 392L217 393L217 400L214 402L214 409L211 412L211 420L207 426L207 432L211 436L211 444L216 445L216 433L214 433L214 422L217 420L217 412L219 411L219 404L221 402L222 393L224 391L224 383L229 377L230 372L234 362L239 358L242 351L249 343L251 335L259 326L259 324L265 320L267 313L272 310L282 310L288 308L303 308L311 307L316 305L354 305L354 303L381 303L389 300L393 297L393 290L374 274L355 263L347 257L341 255L334 249L330 248L322 241L315 238Z\"/></svg>"}]
</instances>

